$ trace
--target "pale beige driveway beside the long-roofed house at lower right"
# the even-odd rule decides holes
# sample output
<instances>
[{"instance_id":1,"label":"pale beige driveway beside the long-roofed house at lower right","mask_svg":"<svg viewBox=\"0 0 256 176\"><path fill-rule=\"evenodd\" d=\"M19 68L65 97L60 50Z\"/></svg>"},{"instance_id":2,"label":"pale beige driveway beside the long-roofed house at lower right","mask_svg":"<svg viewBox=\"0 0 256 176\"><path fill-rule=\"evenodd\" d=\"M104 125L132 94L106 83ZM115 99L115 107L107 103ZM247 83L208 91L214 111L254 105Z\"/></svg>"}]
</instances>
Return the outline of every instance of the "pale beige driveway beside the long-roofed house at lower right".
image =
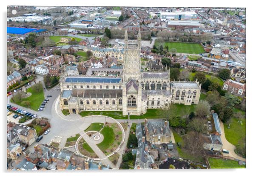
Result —
<instances>
[{"instance_id":1,"label":"pale beige driveway beside the long-roofed house at lower right","mask_svg":"<svg viewBox=\"0 0 256 176\"><path fill-rule=\"evenodd\" d=\"M222 134L220 136L220 138L222 140L222 144L223 144L222 148L229 151L229 154L223 153L223 155L245 161L245 158L240 157L235 153L236 146L234 146L233 144L228 142L228 140L225 137L224 124L222 123L222 121L220 121L219 123L220 123L221 131L222 131Z\"/></svg>"}]
</instances>

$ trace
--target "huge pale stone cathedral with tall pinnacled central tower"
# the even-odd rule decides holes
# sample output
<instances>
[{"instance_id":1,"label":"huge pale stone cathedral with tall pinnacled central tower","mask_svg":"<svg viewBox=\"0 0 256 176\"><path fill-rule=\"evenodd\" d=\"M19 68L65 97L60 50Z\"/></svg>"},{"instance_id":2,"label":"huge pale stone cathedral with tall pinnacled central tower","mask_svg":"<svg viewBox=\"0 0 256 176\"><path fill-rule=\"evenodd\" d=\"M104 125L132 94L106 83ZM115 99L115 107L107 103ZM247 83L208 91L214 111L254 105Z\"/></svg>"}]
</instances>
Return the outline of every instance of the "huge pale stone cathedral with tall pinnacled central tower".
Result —
<instances>
[{"instance_id":1,"label":"huge pale stone cathedral with tall pinnacled central tower","mask_svg":"<svg viewBox=\"0 0 256 176\"><path fill-rule=\"evenodd\" d=\"M140 50L140 31L137 40L128 40L125 31L122 69L89 68L85 75L62 74L60 108L69 113L113 110L141 115L171 103L198 104L201 84L197 80L170 81L168 69L143 71Z\"/></svg>"}]
</instances>

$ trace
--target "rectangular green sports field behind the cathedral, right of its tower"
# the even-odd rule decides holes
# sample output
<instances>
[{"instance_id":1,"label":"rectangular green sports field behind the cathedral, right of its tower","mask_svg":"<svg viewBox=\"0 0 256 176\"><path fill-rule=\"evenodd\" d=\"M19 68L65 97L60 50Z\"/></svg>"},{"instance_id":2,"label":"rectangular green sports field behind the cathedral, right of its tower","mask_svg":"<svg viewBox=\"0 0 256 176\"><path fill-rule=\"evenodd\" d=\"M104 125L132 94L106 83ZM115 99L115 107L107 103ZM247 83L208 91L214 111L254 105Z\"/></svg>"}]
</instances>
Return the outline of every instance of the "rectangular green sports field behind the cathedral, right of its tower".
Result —
<instances>
[{"instance_id":1,"label":"rectangular green sports field behind the cathedral, right of its tower","mask_svg":"<svg viewBox=\"0 0 256 176\"><path fill-rule=\"evenodd\" d=\"M160 43L155 41L155 45L158 47ZM176 48L177 52L181 53L200 54L205 52L202 45L197 43L165 42L164 47L165 46L168 46L169 50Z\"/></svg>"}]
</instances>

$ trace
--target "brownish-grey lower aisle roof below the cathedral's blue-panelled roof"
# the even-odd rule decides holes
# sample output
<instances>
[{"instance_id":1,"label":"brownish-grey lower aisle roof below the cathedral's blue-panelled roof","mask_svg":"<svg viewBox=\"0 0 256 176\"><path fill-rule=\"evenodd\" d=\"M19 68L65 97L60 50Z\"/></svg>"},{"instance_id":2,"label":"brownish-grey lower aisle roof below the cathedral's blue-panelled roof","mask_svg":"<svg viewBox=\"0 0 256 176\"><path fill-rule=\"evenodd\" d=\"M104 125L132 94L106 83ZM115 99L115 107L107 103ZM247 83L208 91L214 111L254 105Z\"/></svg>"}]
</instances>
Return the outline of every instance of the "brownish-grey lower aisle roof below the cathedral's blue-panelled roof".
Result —
<instances>
[{"instance_id":1,"label":"brownish-grey lower aisle roof below the cathedral's blue-panelled roof","mask_svg":"<svg viewBox=\"0 0 256 176\"><path fill-rule=\"evenodd\" d=\"M73 89L72 96L85 98L121 98L122 89Z\"/></svg>"}]
</instances>

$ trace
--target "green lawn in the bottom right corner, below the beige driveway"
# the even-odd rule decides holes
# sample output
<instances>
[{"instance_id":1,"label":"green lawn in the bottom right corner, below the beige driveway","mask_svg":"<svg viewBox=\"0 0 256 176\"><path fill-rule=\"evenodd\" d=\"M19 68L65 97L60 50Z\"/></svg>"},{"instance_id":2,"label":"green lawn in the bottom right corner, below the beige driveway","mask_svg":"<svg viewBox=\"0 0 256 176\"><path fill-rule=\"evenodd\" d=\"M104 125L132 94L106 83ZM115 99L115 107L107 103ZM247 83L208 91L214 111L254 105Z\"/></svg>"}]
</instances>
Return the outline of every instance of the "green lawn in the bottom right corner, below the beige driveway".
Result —
<instances>
[{"instance_id":1,"label":"green lawn in the bottom right corner, below the beige driveway","mask_svg":"<svg viewBox=\"0 0 256 176\"><path fill-rule=\"evenodd\" d=\"M225 160L219 158L208 158L210 162L210 167L212 169L222 169L222 168L245 168L245 165L239 165L237 161Z\"/></svg>"}]
</instances>

